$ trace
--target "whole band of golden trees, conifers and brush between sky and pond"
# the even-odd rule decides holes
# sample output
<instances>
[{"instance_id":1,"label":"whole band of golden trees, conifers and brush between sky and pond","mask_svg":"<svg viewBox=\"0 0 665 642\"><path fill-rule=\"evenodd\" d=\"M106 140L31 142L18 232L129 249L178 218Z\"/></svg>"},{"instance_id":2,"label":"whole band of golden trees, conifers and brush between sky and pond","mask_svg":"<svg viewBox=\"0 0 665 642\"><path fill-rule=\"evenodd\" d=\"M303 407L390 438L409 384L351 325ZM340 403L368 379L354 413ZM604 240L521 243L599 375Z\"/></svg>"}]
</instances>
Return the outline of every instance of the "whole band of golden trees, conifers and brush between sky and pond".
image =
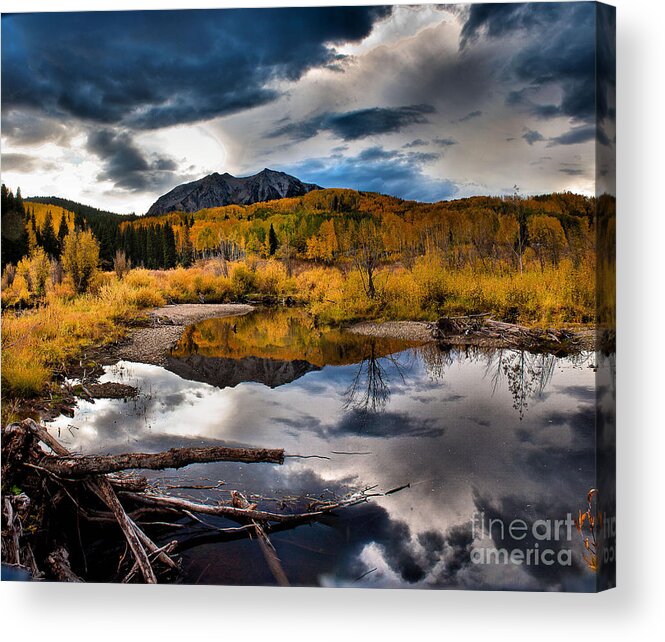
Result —
<instances>
[{"instance_id":1,"label":"whole band of golden trees, conifers and brush between sky and pond","mask_svg":"<svg viewBox=\"0 0 665 642\"><path fill-rule=\"evenodd\" d=\"M327 189L141 218L41 200L3 187L2 377L17 395L165 303L289 300L333 325L593 323L596 243L614 233L571 193L431 204Z\"/></svg>"}]
</instances>

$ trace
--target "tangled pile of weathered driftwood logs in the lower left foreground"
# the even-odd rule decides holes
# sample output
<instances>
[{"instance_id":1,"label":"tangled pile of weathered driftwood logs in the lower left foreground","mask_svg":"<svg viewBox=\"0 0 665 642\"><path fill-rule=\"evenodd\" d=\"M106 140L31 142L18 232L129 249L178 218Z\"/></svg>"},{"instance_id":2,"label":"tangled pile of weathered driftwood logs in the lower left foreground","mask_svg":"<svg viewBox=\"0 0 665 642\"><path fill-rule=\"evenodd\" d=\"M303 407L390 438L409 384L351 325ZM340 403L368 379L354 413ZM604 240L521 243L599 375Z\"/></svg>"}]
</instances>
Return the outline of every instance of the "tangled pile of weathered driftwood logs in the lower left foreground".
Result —
<instances>
[{"instance_id":1,"label":"tangled pile of weathered driftwood logs in the lower left foreground","mask_svg":"<svg viewBox=\"0 0 665 642\"><path fill-rule=\"evenodd\" d=\"M371 493L371 489L365 489L341 499L326 502L315 500L308 502L304 512L262 510L238 491L231 491L230 501L227 502L194 501L167 495L158 487L151 486L146 477L122 471L160 470L217 461L282 464L284 451L211 447L173 448L155 454L77 456L31 419L11 424L2 432L3 476L7 474L9 483L17 482L20 486L23 486L24 481L29 482L26 487L39 493L37 497L40 511L53 511L53 519L57 523L57 520L62 518L62 513L55 512L59 510L57 507L63 503L66 507L73 505L77 514L85 520L84 524L88 524L90 528L115 524L120 529L126 546L125 552L119 558L115 578L123 582L139 579L146 583L155 583L160 573L177 570L179 566L173 555L196 545L197 541L202 542L200 529L203 528L208 531L206 536L212 533L213 537L223 538L222 541L256 537L275 580L278 584L288 585L286 573L270 541L270 532L294 528L334 510L354 506L382 494ZM46 454L43 446L51 452ZM217 488L221 483L214 487L193 484L192 488ZM25 534L18 516L19 511L25 512L30 508L30 502L27 495L3 495L2 557L5 563L27 570L33 577L37 577L40 570L34 561L30 544L24 541ZM66 508L66 511L65 515L71 514L70 508ZM158 519L162 521L146 523L145 517L153 514L159 515ZM238 526L223 527L210 523L215 520L208 521L206 516L232 520ZM159 526L162 536L164 529L169 528L171 532L182 535L158 546L144 530L152 525ZM64 544L59 544L55 549L47 549L51 553L43 560L44 570L48 571L50 577L60 581L84 581L87 575L85 559L83 572L80 574L77 566L80 565L80 560L72 557L73 562L70 564L67 545L78 542L76 545L81 546L81 551L85 550L80 541L78 521L73 526L76 528L74 536L63 536Z\"/></svg>"}]
</instances>

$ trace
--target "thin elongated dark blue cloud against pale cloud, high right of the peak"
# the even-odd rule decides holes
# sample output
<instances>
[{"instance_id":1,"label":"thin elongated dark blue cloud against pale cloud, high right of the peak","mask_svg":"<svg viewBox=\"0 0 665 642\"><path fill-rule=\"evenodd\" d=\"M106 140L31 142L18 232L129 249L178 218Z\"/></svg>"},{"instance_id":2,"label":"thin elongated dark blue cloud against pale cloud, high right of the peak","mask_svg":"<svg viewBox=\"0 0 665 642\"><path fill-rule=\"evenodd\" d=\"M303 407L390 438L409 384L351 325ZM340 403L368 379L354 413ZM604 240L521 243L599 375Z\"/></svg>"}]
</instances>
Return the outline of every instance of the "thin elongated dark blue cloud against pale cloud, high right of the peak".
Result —
<instances>
[{"instance_id":1,"label":"thin elongated dark blue cloud against pale cloud, high right of the peak","mask_svg":"<svg viewBox=\"0 0 665 642\"><path fill-rule=\"evenodd\" d=\"M434 111L431 105L406 105L371 107L342 113L326 112L304 121L283 125L268 134L268 138L288 136L302 141L313 138L321 131L329 131L342 140L358 140L367 136L398 132L409 125L427 123L427 114Z\"/></svg>"}]
</instances>

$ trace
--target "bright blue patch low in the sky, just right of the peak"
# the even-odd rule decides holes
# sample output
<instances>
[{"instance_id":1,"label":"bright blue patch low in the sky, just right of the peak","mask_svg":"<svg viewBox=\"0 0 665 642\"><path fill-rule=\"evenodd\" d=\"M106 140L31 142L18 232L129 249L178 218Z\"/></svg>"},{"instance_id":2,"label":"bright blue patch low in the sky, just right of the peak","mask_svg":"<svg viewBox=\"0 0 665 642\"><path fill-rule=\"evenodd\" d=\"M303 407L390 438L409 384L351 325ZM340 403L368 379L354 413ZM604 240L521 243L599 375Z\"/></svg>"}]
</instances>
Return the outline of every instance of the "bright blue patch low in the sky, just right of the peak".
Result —
<instances>
[{"instance_id":1,"label":"bright blue patch low in the sky, just right of the peak","mask_svg":"<svg viewBox=\"0 0 665 642\"><path fill-rule=\"evenodd\" d=\"M372 147L356 156L312 158L284 170L322 187L348 187L427 202L453 196L458 190L454 182L424 173L424 156L433 159L429 154Z\"/></svg>"}]
</instances>

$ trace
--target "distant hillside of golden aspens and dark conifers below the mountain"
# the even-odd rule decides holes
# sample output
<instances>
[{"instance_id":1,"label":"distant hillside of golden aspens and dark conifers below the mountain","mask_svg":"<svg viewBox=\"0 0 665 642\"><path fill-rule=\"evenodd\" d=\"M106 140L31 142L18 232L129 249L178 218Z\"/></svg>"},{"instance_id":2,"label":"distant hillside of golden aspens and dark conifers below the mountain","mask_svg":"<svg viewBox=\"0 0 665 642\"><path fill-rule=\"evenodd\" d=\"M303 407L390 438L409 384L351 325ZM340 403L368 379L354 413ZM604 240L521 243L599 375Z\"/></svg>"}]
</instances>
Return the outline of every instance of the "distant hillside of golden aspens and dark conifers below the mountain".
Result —
<instances>
[{"instance_id":1,"label":"distant hillside of golden aspens and dark conifers below the mountain","mask_svg":"<svg viewBox=\"0 0 665 642\"><path fill-rule=\"evenodd\" d=\"M4 263L16 262L35 244L57 257L58 241L74 226L91 229L106 269L118 252L132 266L149 269L248 256L332 265L350 262L360 237L371 243L378 262L408 265L436 251L454 268L503 265L523 270L525 263L536 262L544 269L563 258L579 265L594 245L595 199L571 193L430 204L327 189L159 217L120 216L54 197L32 199L22 207L28 244L8 250Z\"/></svg>"}]
</instances>

